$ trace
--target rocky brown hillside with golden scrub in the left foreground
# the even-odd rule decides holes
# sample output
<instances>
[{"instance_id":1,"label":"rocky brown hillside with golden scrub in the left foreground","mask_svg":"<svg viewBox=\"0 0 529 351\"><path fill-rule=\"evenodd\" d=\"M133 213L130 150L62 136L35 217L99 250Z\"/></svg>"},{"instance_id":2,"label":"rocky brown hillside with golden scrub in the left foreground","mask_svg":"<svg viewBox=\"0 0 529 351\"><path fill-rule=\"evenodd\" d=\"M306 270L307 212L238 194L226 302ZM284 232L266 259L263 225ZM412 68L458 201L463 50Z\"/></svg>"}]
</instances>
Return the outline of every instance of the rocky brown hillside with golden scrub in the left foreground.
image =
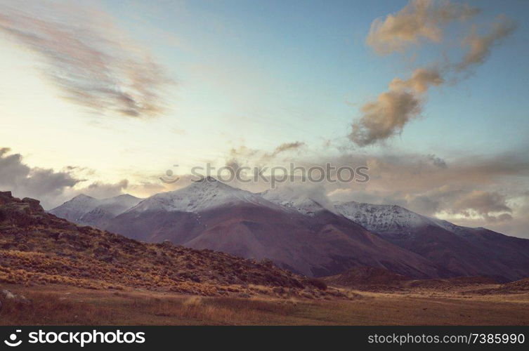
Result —
<instances>
[{"instance_id":1,"label":"rocky brown hillside with golden scrub in the left foreground","mask_svg":"<svg viewBox=\"0 0 529 351\"><path fill-rule=\"evenodd\" d=\"M0 282L131 286L207 295L247 284L313 291L303 277L269 263L172 244L145 244L45 213L34 199L0 192ZM266 291L266 289L265 289Z\"/></svg>"}]
</instances>

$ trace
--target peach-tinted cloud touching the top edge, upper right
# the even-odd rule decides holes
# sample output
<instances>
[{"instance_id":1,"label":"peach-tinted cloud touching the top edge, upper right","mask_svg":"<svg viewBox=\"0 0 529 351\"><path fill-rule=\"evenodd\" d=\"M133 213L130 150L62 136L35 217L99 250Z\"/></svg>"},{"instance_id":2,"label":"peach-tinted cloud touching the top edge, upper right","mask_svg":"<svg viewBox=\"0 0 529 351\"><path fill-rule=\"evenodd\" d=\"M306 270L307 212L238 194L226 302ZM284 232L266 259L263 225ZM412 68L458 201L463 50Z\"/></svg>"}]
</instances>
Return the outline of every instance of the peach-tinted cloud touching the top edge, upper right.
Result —
<instances>
[{"instance_id":1,"label":"peach-tinted cloud touching the top edge, upper right","mask_svg":"<svg viewBox=\"0 0 529 351\"><path fill-rule=\"evenodd\" d=\"M404 51L422 39L439 43L443 39L444 25L466 20L478 12L467 4L413 0L398 13L374 20L366 41L381 55Z\"/></svg>"}]
</instances>

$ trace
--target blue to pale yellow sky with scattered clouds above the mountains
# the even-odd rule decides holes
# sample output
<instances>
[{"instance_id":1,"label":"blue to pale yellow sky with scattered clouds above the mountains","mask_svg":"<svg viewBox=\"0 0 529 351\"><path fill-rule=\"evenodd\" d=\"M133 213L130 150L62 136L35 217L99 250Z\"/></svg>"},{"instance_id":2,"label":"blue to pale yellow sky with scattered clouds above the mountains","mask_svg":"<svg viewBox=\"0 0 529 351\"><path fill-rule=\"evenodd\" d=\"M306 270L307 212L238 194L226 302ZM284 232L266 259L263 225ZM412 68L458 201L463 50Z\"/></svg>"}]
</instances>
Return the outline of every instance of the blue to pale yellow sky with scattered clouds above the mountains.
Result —
<instances>
[{"instance_id":1,"label":"blue to pale yellow sky with scattered clouds above the mountains","mask_svg":"<svg viewBox=\"0 0 529 351\"><path fill-rule=\"evenodd\" d=\"M0 189L147 197L207 162L529 237L529 3L0 0ZM178 164L178 166L174 166ZM261 191L266 185L244 185Z\"/></svg>"}]
</instances>

